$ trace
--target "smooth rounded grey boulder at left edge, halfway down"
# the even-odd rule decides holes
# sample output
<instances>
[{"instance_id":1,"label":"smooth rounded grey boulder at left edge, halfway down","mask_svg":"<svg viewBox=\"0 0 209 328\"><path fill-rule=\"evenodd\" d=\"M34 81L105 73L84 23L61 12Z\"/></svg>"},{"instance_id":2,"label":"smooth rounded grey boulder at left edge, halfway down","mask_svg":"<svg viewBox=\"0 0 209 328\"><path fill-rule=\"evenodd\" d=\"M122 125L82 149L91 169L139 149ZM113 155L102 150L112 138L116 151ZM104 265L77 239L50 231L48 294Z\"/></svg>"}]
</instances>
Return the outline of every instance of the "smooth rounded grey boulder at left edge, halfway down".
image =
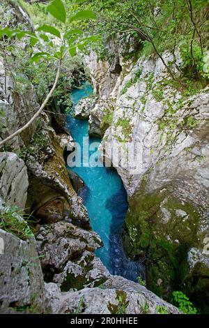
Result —
<instances>
[{"instance_id":1,"label":"smooth rounded grey boulder at left edge, halfway down","mask_svg":"<svg viewBox=\"0 0 209 328\"><path fill-rule=\"evenodd\" d=\"M26 165L16 154L0 153L0 200L24 209L29 179Z\"/></svg>"}]
</instances>

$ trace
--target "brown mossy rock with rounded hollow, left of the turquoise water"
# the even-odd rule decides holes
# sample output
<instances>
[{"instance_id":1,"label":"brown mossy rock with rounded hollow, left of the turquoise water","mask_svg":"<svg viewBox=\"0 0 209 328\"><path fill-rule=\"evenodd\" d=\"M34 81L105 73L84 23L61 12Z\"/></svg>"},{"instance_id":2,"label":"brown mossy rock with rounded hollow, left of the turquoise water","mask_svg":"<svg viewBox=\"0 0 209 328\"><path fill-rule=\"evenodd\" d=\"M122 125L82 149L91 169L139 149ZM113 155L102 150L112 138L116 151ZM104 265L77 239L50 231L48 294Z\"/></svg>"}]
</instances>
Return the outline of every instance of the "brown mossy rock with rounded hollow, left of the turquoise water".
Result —
<instances>
[{"instance_id":1,"label":"brown mossy rock with rounded hollow, left of the turquoise water","mask_svg":"<svg viewBox=\"0 0 209 328\"><path fill-rule=\"evenodd\" d=\"M42 224L68 217L89 226L86 207L72 187L63 158L68 142L72 145L72 137L63 132L57 135L42 114L42 128L33 136L26 160L30 181L26 207Z\"/></svg>"}]
</instances>

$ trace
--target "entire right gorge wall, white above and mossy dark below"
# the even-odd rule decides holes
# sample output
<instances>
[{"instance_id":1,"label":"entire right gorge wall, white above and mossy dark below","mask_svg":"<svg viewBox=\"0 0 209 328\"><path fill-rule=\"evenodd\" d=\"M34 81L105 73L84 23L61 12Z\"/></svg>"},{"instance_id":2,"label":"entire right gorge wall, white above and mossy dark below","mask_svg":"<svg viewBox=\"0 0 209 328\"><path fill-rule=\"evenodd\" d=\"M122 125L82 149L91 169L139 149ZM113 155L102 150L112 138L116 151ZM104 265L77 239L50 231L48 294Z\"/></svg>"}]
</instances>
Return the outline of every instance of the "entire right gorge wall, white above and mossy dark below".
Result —
<instances>
[{"instance_id":1,"label":"entire right gorge wall, white above and mossy dark below","mask_svg":"<svg viewBox=\"0 0 209 328\"><path fill-rule=\"evenodd\" d=\"M172 61L169 52L163 56ZM209 258L195 262L192 256L203 252L209 233L209 89L194 96L177 91L155 56L139 57L135 64L123 53L119 58L122 70L114 77L107 64L98 68L91 62L98 60L94 55L88 59L93 83L100 84L89 121L104 135L104 157L116 167L129 197L125 250L132 257L146 256L148 288L157 295L181 289L206 306ZM108 92L103 83L111 86ZM134 165L125 161L127 143L139 149ZM117 162L112 154L118 149Z\"/></svg>"}]
</instances>

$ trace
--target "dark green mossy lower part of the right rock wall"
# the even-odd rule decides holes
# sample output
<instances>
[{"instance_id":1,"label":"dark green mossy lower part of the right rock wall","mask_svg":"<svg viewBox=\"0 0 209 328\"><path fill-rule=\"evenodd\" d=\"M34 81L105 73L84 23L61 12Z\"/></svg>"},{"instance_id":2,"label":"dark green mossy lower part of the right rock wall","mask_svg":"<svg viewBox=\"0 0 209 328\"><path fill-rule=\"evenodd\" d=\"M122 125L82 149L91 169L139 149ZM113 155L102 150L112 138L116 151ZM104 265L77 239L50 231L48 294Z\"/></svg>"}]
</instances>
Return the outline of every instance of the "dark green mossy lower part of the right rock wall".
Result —
<instances>
[{"instance_id":1,"label":"dark green mossy lower part of the right rock wall","mask_svg":"<svg viewBox=\"0 0 209 328\"><path fill-rule=\"evenodd\" d=\"M148 289L160 297L169 299L172 290L206 297L208 268L204 274L197 268L191 273L187 262L189 249L201 247L199 210L175 197L172 189L147 193L145 187L146 179L130 199L123 234L125 251L132 258L146 256Z\"/></svg>"}]
</instances>

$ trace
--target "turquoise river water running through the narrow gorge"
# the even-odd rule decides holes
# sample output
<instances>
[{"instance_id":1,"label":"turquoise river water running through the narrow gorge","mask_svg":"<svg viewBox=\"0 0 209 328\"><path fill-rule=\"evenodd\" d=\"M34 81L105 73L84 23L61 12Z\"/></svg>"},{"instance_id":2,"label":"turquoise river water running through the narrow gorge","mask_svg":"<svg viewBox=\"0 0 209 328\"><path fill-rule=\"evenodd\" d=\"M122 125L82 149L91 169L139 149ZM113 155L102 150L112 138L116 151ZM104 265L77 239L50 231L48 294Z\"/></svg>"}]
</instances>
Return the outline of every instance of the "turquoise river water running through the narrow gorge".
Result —
<instances>
[{"instance_id":1,"label":"turquoise river water running through the narrow gorge","mask_svg":"<svg viewBox=\"0 0 209 328\"><path fill-rule=\"evenodd\" d=\"M91 96L93 89L88 82L82 84L79 89L72 91L72 103L75 106L78 101ZM73 110L73 109L72 109ZM67 119L68 129L82 149L84 137L88 137L88 120L75 119L72 112ZM94 142L100 143L100 138L89 137L88 147L91 156L95 149ZM81 152L83 158L83 151ZM95 155L100 161L100 153ZM77 173L85 183L79 192L88 210L91 227L100 234L104 246L96 251L96 255L109 269L111 274L124 276L132 281L137 281L138 276L145 278L144 267L140 262L126 258L123 251L122 229L127 213L127 193L121 177L115 170L108 167L86 167L84 163L80 167L68 167Z\"/></svg>"}]
</instances>

